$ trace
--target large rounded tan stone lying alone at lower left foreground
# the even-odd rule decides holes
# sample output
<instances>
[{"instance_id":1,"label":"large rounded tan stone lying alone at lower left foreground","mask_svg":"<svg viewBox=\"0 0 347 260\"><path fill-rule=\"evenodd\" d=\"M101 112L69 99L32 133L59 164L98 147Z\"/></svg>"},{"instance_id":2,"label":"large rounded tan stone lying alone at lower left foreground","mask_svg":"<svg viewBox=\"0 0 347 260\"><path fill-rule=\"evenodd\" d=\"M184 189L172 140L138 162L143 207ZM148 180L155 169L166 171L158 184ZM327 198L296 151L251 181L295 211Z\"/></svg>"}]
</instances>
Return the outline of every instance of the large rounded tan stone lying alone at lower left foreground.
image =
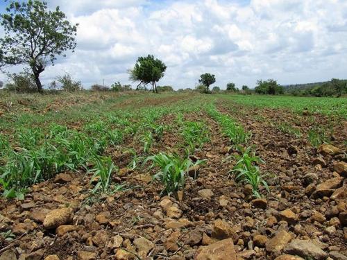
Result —
<instances>
[{"instance_id":1,"label":"large rounded tan stone lying alone at lower left foreground","mask_svg":"<svg viewBox=\"0 0 347 260\"><path fill-rule=\"evenodd\" d=\"M72 221L74 211L71 208L53 209L44 218L43 225L46 229L53 229Z\"/></svg>"}]
</instances>

